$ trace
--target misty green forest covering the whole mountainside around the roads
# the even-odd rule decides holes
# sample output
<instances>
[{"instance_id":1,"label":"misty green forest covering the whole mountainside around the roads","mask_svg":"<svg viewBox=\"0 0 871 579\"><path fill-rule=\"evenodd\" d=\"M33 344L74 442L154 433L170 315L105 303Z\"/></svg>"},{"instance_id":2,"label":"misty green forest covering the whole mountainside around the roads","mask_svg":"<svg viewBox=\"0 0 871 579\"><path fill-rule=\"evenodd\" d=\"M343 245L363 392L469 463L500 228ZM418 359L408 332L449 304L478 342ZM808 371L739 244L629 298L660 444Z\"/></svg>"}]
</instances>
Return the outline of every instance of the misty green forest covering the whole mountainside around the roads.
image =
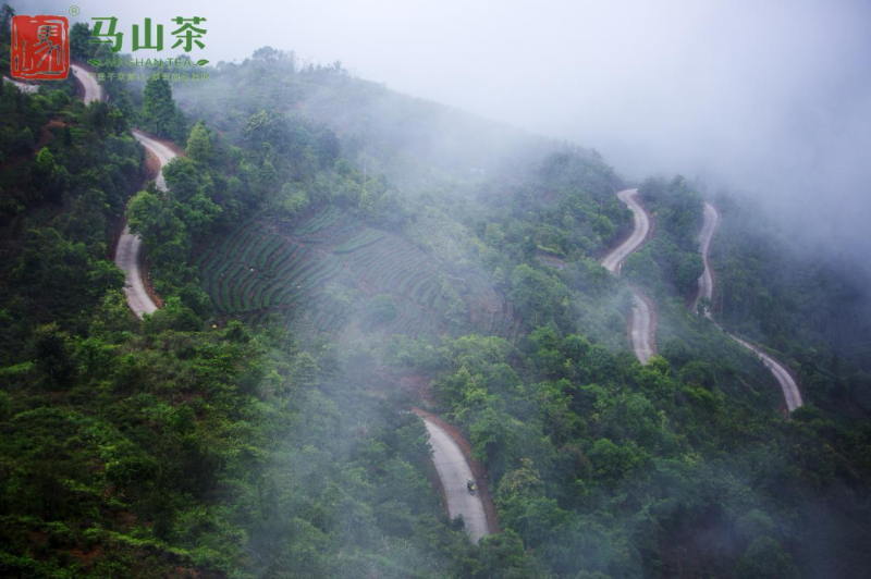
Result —
<instances>
[{"instance_id":1,"label":"misty green forest covering the whole mountainside around the roads","mask_svg":"<svg viewBox=\"0 0 871 579\"><path fill-rule=\"evenodd\" d=\"M74 62L107 57L89 36ZM871 312L848 264L728 192L636 183L339 62L263 47L209 73L87 106L72 76L0 83L0 574L868 572ZM180 152L168 190L134 127ZM615 276L629 187L655 227ZM161 305L144 320L125 224ZM646 365L630 286L657 306ZM724 330L805 405L786 416ZM468 441L499 532L450 517L415 408Z\"/></svg>"}]
</instances>

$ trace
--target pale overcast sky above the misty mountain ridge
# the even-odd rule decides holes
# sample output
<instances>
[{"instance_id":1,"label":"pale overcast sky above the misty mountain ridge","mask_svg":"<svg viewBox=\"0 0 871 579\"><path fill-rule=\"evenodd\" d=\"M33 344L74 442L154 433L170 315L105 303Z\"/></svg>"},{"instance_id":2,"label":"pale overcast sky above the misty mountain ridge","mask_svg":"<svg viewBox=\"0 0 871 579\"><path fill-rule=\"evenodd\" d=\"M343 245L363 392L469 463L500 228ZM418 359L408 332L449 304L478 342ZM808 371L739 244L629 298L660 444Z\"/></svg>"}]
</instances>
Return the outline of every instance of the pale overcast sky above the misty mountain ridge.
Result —
<instances>
[{"instance_id":1,"label":"pale overcast sky above the misty mountain ridge","mask_svg":"<svg viewBox=\"0 0 871 579\"><path fill-rule=\"evenodd\" d=\"M871 248L867 0L77 1L72 22L113 15L127 33L146 16L204 16L198 58L241 61L269 45L341 60L390 88L596 148L627 177L699 176L842 248Z\"/></svg>"}]
</instances>

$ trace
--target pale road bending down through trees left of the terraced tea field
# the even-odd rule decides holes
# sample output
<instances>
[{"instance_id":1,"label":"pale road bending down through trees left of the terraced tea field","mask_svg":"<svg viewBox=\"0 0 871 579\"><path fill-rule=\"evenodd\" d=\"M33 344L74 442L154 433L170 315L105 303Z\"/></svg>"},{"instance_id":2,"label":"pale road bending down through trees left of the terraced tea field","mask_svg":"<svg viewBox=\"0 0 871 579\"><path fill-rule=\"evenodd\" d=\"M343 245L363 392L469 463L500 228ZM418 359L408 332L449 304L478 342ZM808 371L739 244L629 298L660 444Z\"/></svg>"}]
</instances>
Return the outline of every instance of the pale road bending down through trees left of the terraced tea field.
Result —
<instances>
[{"instance_id":1,"label":"pale road bending down through trees left of the terraced tea field","mask_svg":"<svg viewBox=\"0 0 871 579\"><path fill-rule=\"evenodd\" d=\"M161 171L158 173L156 183L158 188L167 190L167 181L163 178L162 168L175 157L175 153L162 143L147 137L138 131L134 131L133 136L160 161ZM127 276L124 284L127 305L139 318L145 317L146 313L154 313L157 311L157 305L145 291L145 283L143 282L143 274L139 269L142 250L142 238L139 238L138 235L133 235L130 232L130 227L124 227L124 233L121 234L121 238L118 241L118 249L115 249L115 264L124 270Z\"/></svg>"}]
</instances>

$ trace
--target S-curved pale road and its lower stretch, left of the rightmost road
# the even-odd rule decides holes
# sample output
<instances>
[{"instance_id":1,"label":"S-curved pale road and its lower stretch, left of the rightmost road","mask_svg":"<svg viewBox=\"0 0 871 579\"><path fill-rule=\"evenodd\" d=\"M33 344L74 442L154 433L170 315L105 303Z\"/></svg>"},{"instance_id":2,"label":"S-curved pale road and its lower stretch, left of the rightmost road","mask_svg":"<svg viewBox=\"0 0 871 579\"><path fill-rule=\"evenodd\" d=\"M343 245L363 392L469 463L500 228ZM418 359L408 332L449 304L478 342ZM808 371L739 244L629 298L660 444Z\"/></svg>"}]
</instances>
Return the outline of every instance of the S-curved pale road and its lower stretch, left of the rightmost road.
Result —
<instances>
[{"instance_id":1,"label":"S-curved pale road and its lower stretch, left of the rightmost road","mask_svg":"<svg viewBox=\"0 0 871 579\"><path fill-rule=\"evenodd\" d=\"M629 237L616 249L602 259L602 267L615 275L619 275L623 262L633 251L637 250L650 233L650 215L638 201L638 189L624 189L617 193L617 198L631 210L635 227ZM629 320L629 343L635 356L641 364L647 364L657 353L655 334L655 307L650 299L638 288L629 287L633 292L633 316Z\"/></svg>"}]
</instances>

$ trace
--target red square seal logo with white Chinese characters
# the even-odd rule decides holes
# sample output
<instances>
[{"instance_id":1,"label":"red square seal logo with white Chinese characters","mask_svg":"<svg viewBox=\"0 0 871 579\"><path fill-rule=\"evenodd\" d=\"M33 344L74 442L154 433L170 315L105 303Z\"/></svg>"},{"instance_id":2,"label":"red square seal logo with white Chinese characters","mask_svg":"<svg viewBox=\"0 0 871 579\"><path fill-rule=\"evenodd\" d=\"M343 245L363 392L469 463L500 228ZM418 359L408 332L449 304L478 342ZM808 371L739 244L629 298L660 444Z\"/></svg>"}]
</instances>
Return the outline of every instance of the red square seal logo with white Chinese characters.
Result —
<instances>
[{"instance_id":1,"label":"red square seal logo with white Chinese characters","mask_svg":"<svg viewBox=\"0 0 871 579\"><path fill-rule=\"evenodd\" d=\"M65 16L12 17L12 76L61 81L70 74L70 22Z\"/></svg>"}]
</instances>

